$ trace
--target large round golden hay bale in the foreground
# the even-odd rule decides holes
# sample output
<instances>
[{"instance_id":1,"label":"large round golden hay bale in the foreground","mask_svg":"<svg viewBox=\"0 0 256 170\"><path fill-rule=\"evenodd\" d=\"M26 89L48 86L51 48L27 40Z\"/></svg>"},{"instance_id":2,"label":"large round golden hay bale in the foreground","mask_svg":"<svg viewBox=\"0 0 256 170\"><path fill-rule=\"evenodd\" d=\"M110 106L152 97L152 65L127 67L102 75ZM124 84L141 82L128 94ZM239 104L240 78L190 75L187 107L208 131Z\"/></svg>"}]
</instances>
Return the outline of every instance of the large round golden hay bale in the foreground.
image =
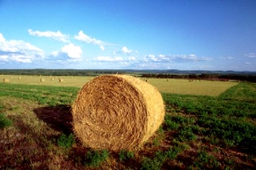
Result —
<instances>
[{"instance_id":1,"label":"large round golden hay bale in the foreground","mask_svg":"<svg viewBox=\"0 0 256 170\"><path fill-rule=\"evenodd\" d=\"M101 75L72 104L74 133L92 149L139 149L164 120L159 91L129 75Z\"/></svg>"}]
</instances>

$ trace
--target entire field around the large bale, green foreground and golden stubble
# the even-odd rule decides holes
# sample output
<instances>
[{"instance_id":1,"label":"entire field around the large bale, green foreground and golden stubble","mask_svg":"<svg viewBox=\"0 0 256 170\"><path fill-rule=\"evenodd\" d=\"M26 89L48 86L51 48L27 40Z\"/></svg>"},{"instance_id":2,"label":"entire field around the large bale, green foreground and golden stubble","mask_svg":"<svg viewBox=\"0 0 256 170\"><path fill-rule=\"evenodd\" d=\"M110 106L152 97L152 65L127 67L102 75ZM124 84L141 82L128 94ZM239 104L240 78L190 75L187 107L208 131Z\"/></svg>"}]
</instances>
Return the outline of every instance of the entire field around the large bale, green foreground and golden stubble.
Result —
<instances>
[{"instance_id":1,"label":"entire field around the large bale, green foreground and golden stubble","mask_svg":"<svg viewBox=\"0 0 256 170\"><path fill-rule=\"evenodd\" d=\"M164 123L140 150L115 153L75 139L70 105L90 77L62 78L0 82L0 169L256 167L255 83L150 79L166 104Z\"/></svg>"}]
</instances>

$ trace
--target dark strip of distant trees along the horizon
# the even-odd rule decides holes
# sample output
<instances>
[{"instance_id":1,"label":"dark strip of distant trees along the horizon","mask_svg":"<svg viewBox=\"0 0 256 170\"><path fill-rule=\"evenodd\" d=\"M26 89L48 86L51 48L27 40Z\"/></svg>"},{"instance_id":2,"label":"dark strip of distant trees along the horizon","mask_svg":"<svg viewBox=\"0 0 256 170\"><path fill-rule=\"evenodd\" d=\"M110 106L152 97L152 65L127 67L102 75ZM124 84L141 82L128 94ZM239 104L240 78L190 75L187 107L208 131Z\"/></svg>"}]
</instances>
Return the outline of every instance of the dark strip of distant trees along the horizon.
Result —
<instances>
[{"instance_id":1,"label":"dark strip of distant trees along the horizon","mask_svg":"<svg viewBox=\"0 0 256 170\"><path fill-rule=\"evenodd\" d=\"M182 71L181 71L182 72ZM201 74L178 74L171 73L154 73L153 71L136 71L136 70L110 70L110 69L0 69L0 74L6 75L53 75L53 76L97 76L100 74L133 74L136 77L158 78L158 79L209 79L209 80L241 80L256 82L256 74L218 74L218 73L201 73Z\"/></svg>"}]
</instances>

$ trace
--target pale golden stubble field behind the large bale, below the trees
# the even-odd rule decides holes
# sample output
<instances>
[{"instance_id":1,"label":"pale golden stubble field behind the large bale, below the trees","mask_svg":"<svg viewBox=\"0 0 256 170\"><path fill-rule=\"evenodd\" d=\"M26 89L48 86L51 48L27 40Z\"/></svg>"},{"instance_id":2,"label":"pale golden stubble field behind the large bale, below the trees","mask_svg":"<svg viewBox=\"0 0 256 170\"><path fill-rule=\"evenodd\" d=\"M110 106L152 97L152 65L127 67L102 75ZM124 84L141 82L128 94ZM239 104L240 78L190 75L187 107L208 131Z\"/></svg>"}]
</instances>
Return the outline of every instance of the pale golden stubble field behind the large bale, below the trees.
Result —
<instances>
[{"instance_id":1,"label":"pale golden stubble field behind the large bale, below the trees","mask_svg":"<svg viewBox=\"0 0 256 170\"><path fill-rule=\"evenodd\" d=\"M0 81L9 79L15 84L28 85L50 85L61 87L82 87L94 77L86 76L40 76L40 75L1 75ZM60 82L62 79L63 82ZM146 80L146 79L143 79ZM238 82L218 82L209 80L194 80L190 82L185 79L148 79L151 85L158 88L161 93L175 93L182 95L206 95L218 96L228 88L237 85Z\"/></svg>"}]
</instances>

